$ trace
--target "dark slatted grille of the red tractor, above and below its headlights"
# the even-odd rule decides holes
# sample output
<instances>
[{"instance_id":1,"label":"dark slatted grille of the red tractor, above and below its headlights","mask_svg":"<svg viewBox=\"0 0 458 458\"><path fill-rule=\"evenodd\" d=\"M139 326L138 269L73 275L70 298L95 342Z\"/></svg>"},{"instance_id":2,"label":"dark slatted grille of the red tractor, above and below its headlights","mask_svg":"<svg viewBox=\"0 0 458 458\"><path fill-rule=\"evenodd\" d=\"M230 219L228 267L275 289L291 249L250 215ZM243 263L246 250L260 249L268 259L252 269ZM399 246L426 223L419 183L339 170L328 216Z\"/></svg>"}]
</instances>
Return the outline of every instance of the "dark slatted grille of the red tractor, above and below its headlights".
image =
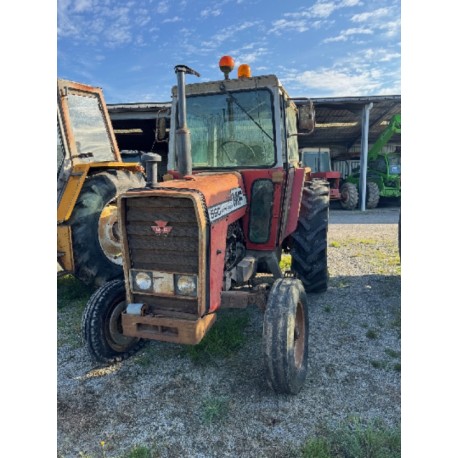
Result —
<instances>
[{"instance_id":1,"label":"dark slatted grille of the red tractor, above and below its headlights","mask_svg":"<svg viewBox=\"0 0 458 458\"><path fill-rule=\"evenodd\" d=\"M148 196L125 199L126 234L130 267L160 272L199 274L199 226L191 199ZM156 235L152 226L167 222L167 235ZM160 223L161 224L161 223ZM198 315L198 299L134 294L134 302L148 305L154 315Z\"/></svg>"}]
</instances>

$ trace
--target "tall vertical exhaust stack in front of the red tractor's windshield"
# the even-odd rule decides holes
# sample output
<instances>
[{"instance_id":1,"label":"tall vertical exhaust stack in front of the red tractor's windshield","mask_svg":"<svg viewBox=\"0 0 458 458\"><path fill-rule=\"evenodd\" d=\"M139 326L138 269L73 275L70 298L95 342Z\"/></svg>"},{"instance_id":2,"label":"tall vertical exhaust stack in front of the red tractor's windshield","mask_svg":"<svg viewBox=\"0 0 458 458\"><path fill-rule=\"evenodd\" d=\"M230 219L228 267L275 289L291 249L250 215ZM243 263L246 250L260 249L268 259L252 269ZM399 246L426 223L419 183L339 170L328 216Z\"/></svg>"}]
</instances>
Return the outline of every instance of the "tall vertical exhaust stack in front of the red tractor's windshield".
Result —
<instances>
[{"instance_id":1,"label":"tall vertical exhaust stack in front of the red tractor's windshield","mask_svg":"<svg viewBox=\"0 0 458 458\"><path fill-rule=\"evenodd\" d=\"M178 128L176 129L178 171L185 176L192 174L191 132L186 123L185 74L197 77L200 77L200 74L186 65L177 65L175 73L178 80Z\"/></svg>"}]
</instances>

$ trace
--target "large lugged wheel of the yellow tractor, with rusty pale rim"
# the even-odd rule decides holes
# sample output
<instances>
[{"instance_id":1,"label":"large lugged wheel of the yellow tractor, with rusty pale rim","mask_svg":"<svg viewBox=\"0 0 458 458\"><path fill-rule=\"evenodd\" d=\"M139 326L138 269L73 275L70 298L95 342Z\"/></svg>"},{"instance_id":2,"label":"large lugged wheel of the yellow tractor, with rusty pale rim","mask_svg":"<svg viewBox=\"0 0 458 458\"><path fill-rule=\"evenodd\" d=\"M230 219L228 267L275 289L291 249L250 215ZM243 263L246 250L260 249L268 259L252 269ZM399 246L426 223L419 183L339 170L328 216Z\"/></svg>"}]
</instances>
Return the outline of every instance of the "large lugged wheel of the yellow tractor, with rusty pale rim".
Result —
<instances>
[{"instance_id":1,"label":"large lugged wheel of the yellow tractor, with rusty pale rim","mask_svg":"<svg viewBox=\"0 0 458 458\"><path fill-rule=\"evenodd\" d=\"M107 170L86 179L69 221L74 273L82 282L97 287L122 277L116 197L144 186L141 173L126 170Z\"/></svg>"}]
</instances>

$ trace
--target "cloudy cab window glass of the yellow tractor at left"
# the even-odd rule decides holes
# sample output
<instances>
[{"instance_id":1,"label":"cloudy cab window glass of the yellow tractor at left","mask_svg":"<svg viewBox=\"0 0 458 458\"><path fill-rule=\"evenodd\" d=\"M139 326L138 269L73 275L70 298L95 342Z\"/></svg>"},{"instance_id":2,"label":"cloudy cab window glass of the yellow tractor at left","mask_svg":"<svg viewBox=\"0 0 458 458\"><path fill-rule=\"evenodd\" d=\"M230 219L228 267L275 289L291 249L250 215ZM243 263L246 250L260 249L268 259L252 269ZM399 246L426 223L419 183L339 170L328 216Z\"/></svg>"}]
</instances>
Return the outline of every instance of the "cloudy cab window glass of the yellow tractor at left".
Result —
<instances>
[{"instance_id":1,"label":"cloudy cab window glass of the yellow tractor at left","mask_svg":"<svg viewBox=\"0 0 458 458\"><path fill-rule=\"evenodd\" d=\"M83 162L113 160L115 156L97 97L70 93L68 108L78 158Z\"/></svg>"}]
</instances>

